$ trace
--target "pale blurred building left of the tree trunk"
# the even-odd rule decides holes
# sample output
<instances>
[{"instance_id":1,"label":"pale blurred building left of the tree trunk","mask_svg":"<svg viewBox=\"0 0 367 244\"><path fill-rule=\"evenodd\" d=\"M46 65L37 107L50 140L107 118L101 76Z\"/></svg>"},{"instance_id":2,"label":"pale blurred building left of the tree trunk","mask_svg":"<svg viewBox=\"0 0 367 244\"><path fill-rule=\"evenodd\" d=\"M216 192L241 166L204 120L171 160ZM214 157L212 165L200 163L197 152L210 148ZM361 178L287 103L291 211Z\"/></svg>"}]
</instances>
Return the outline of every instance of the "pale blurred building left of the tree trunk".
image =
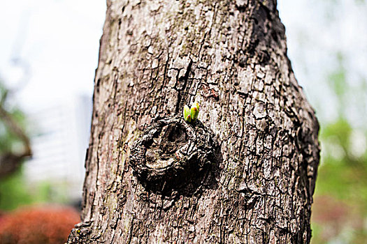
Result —
<instances>
[{"instance_id":1,"label":"pale blurred building left of the tree trunk","mask_svg":"<svg viewBox=\"0 0 367 244\"><path fill-rule=\"evenodd\" d=\"M33 156L24 163L30 186L50 185L68 201L82 197L85 152L89 143L92 98L79 96L28 114Z\"/></svg>"}]
</instances>

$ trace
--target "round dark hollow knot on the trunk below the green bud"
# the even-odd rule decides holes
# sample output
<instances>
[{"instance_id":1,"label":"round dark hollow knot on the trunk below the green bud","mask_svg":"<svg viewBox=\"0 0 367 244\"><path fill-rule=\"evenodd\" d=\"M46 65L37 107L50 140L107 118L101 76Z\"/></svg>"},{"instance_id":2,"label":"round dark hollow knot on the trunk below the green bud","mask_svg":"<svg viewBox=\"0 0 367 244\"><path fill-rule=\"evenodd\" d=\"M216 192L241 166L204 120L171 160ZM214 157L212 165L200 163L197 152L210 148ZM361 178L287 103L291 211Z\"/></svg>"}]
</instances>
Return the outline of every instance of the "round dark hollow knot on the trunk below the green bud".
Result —
<instances>
[{"instance_id":1,"label":"round dark hollow knot on the trunk below the green bud","mask_svg":"<svg viewBox=\"0 0 367 244\"><path fill-rule=\"evenodd\" d=\"M216 162L214 134L200 121L181 117L154 121L131 146L129 163L139 181L154 190L197 182Z\"/></svg>"}]
</instances>

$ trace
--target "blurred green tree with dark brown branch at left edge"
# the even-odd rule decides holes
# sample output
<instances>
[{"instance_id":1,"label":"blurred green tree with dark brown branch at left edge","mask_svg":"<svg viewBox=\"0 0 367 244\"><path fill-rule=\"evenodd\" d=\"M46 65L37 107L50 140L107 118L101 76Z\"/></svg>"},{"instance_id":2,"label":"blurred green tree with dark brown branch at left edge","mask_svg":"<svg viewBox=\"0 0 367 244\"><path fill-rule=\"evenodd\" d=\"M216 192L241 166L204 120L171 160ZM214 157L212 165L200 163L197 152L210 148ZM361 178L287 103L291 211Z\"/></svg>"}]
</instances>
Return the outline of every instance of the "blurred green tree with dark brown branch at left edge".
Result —
<instances>
[{"instance_id":1,"label":"blurred green tree with dark brown branch at left edge","mask_svg":"<svg viewBox=\"0 0 367 244\"><path fill-rule=\"evenodd\" d=\"M23 112L11 105L16 91L0 80L0 212L32 201L22 178L22 162L31 156L31 144Z\"/></svg>"}]
</instances>

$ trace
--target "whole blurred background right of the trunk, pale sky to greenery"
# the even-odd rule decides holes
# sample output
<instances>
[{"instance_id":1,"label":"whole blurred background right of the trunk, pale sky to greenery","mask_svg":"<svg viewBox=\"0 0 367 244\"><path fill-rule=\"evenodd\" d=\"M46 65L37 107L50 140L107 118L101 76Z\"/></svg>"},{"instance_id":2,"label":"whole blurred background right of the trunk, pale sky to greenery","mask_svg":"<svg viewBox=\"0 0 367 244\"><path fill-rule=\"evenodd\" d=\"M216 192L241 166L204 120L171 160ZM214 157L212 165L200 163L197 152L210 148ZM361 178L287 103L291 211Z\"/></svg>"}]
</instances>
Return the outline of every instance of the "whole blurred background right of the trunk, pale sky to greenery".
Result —
<instances>
[{"instance_id":1,"label":"whole blurred background right of the trunk, pale sky to greenery","mask_svg":"<svg viewBox=\"0 0 367 244\"><path fill-rule=\"evenodd\" d=\"M278 10L320 123L312 243L367 243L367 3L278 0Z\"/></svg>"}]
</instances>

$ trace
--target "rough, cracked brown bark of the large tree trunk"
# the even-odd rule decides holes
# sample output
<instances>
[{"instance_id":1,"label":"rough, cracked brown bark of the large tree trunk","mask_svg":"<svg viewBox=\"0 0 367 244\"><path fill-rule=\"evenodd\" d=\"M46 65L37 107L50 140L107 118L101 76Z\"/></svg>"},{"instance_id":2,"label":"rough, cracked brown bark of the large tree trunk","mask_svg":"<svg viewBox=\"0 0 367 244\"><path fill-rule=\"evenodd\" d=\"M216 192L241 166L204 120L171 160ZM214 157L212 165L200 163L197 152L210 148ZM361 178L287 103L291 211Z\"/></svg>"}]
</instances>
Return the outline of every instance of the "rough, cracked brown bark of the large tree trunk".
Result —
<instances>
[{"instance_id":1,"label":"rough, cracked brown bark of the large tree trunk","mask_svg":"<svg viewBox=\"0 0 367 244\"><path fill-rule=\"evenodd\" d=\"M319 125L276 1L107 6L69 243L309 243Z\"/></svg>"}]
</instances>

